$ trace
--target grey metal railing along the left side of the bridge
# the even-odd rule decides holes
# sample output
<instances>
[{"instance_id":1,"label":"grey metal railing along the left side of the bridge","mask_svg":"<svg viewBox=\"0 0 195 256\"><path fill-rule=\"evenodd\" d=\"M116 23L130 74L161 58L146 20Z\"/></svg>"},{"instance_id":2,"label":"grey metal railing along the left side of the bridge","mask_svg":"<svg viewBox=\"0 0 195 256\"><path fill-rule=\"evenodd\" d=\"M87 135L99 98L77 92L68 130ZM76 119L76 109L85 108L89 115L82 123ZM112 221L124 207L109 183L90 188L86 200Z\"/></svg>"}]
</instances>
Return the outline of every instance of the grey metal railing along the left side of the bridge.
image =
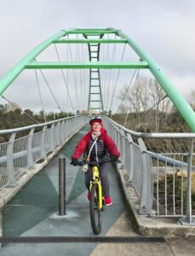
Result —
<instances>
[{"instance_id":1,"label":"grey metal railing along the left side of the bridge","mask_svg":"<svg viewBox=\"0 0 195 256\"><path fill-rule=\"evenodd\" d=\"M88 121L87 116L77 116L0 131L0 135L10 134L9 142L0 144L0 189L16 186L17 177L33 168L38 160L46 159L49 152ZM36 129L41 131L35 132ZM28 135L16 138L21 131Z\"/></svg>"}]
</instances>

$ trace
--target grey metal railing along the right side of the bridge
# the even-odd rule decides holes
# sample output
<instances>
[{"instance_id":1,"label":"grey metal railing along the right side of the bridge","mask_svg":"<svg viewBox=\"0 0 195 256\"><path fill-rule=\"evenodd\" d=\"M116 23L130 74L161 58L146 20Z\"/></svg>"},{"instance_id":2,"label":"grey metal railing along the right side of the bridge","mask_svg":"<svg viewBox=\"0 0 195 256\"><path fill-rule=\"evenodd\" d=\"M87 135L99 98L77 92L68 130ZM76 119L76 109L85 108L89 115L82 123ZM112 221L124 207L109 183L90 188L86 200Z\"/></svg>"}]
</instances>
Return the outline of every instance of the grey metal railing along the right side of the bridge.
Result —
<instances>
[{"instance_id":1,"label":"grey metal railing along the right side of the bridge","mask_svg":"<svg viewBox=\"0 0 195 256\"><path fill-rule=\"evenodd\" d=\"M140 214L181 217L181 223L192 224L195 217L192 201L195 134L135 132L108 118L104 118L104 126L118 146L123 169L140 199ZM156 154L146 149L144 138L186 139L191 141L191 146L184 153Z\"/></svg>"}]
</instances>

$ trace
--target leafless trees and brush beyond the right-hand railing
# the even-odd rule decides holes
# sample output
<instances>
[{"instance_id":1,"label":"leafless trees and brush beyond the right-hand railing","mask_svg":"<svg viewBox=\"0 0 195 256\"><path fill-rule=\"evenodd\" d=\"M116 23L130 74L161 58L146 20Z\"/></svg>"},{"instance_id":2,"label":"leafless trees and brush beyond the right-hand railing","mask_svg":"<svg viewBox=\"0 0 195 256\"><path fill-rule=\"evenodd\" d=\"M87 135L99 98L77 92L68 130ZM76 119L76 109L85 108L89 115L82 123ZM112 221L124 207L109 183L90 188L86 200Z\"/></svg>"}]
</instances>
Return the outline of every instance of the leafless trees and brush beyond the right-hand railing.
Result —
<instances>
[{"instance_id":1,"label":"leafless trees and brush beyond the right-hand railing","mask_svg":"<svg viewBox=\"0 0 195 256\"><path fill-rule=\"evenodd\" d=\"M155 79L141 77L129 88L123 85L118 113L109 113L114 121L133 131L141 132L191 132L181 114L170 102L163 88ZM188 102L195 109L195 90ZM185 139L146 139L146 146L153 152L186 152L189 141Z\"/></svg>"}]
</instances>

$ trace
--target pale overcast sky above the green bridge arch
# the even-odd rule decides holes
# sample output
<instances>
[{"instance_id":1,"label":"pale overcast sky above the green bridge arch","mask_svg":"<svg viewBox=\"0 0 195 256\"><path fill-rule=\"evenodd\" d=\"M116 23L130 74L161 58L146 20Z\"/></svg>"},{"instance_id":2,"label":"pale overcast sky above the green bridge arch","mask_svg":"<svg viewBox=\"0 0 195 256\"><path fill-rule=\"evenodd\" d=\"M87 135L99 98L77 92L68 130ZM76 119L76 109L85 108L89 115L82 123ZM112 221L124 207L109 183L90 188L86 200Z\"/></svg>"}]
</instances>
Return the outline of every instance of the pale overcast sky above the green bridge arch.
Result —
<instances>
[{"instance_id":1,"label":"pale overcast sky above the green bridge arch","mask_svg":"<svg viewBox=\"0 0 195 256\"><path fill-rule=\"evenodd\" d=\"M152 57L183 96L195 90L193 0L2 1L0 24L0 78L37 44L62 29L115 27ZM30 107L37 105L31 90L15 85L4 95L28 108L29 102Z\"/></svg>"}]
</instances>

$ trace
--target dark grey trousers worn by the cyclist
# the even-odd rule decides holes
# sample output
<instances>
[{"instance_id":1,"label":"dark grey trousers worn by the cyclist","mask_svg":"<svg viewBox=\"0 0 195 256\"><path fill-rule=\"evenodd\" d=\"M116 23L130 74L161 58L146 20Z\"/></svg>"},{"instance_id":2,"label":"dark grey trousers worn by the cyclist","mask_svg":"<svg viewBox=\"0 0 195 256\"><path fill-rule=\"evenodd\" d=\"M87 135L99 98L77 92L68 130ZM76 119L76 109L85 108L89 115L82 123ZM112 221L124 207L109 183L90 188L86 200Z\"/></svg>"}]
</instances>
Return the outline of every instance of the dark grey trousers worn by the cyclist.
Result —
<instances>
[{"instance_id":1,"label":"dark grey trousers worn by the cyclist","mask_svg":"<svg viewBox=\"0 0 195 256\"><path fill-rule=\"evenodd\" d=\"M110 187L108 182L108 169L109 163L104 163L100 166L100 181L103 189L103 196L110 196ZM90 180L92 178L92 166L89 166L88 172L85 172L85 185L87 189L90 186Z\"/></svg>"}]
</instances>

